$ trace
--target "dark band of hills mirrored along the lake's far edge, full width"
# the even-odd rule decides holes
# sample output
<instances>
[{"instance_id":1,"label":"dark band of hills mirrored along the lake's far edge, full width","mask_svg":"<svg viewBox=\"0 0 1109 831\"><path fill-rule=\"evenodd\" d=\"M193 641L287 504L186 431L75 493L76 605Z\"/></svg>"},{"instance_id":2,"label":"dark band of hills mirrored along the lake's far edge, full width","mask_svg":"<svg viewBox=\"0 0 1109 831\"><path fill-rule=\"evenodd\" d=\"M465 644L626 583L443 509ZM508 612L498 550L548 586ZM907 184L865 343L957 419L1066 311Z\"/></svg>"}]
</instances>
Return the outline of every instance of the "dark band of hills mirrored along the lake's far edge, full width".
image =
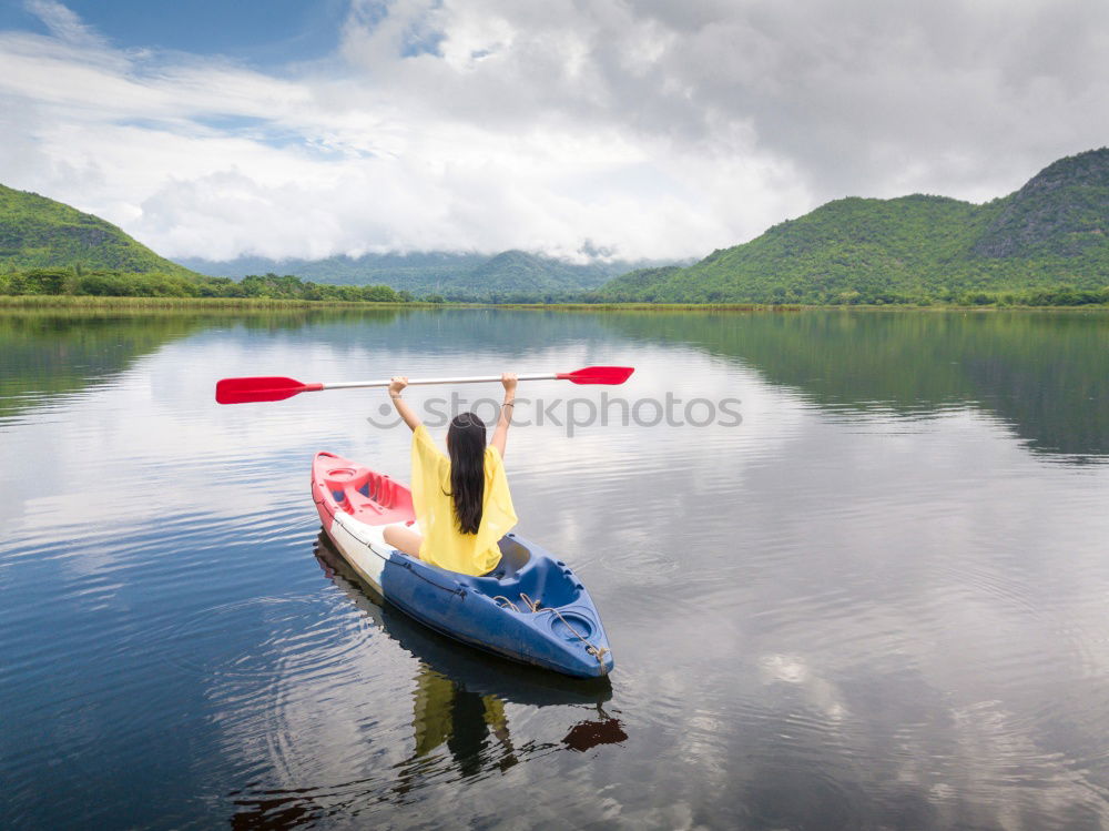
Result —
<instances>
[{"instance_id":1,"label":"dark band of hills mirrored along the lake's far edge, full width","mask_svg":"<svg viewBox=\"0 0 1109 831\"><path fill-rule=\"evenodd\" d=\"M405 352L418 330L409 361L465 353L482 366L526 343L588 343L598 356L629 341L682 343L739 359L832 413L920 417L973 406L996 413L1036 452L1075 462L1109 454L1109 315L1072 312L6 313L0 416L211 328L232 341L326 345L347 358Z\"/></svg>"}]
</instances>

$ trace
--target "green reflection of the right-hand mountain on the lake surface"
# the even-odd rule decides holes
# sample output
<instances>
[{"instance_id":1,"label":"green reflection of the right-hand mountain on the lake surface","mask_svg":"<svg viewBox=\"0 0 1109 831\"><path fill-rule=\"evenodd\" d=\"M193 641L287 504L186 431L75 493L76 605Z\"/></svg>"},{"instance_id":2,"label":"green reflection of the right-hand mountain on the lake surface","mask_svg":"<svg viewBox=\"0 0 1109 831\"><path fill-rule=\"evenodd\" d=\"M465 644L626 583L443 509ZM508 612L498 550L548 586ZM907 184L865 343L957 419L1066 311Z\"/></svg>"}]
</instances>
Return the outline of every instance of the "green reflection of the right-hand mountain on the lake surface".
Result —
<instances>
[{"instance_id":1,"label":"green reflection of the right-hand mountain on the lake surface","mask_svg":"<svg viewBox=\"0 0 1109 831\"><path fill-rule=\"evenodd\" d=\"M1109 454L1109 315L1051 312L803 312L597 315L637 341L739 359L822 408L855 417L969 406L1030 449Z\"/></svg>"}]
</instances>

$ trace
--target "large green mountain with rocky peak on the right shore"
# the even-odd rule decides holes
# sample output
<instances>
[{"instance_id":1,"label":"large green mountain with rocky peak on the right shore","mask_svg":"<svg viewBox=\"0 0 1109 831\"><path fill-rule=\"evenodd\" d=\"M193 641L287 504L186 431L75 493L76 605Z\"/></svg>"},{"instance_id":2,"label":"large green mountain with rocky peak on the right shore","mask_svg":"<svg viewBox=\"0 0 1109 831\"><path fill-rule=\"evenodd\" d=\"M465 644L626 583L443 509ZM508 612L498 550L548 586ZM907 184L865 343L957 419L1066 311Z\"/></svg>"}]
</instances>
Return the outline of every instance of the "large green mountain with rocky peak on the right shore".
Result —
<instances>
[{"instance_id":1,"label":"large green mountain with rocky peak on the right shore","mask_svg":"<svg viewBox=\"0 0 1109 831\"><path fill-rule=\"evenodd\" d=\"M684 268L633 271L600 300L673 303L980 302L1109 286L1109 149L1052 163L983 205L842 199Z\"/></svg>"}]
</instances>

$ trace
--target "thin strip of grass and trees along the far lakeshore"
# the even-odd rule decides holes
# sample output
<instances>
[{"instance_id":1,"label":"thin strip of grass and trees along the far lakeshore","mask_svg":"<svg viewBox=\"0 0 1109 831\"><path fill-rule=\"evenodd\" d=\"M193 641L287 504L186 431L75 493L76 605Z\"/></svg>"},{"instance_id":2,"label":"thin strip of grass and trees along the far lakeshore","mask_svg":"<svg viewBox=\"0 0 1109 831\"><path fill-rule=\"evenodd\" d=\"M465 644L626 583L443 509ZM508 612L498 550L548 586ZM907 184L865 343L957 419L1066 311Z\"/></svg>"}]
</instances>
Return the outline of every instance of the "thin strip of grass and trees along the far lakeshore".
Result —
<instances>
[{"instance_id":1,"label":"thin strip of grass and trees along the far lakeshore","mask_svg":"<svg viewBox=\"0 0 1109 831\"><path fill-rule=\"evenodd\" d=\"M808 311L913 311L913 312L1109 312L1106 304L1080 306L1028 305L957 305L957 304L883 304L883 305L817 305L804 303L421 303L411 301L303 301L268 300L258 297L104 297L85 295L21 294L0 295L0 312L19 310L73 310L73 311L312 311L312 310L385 310L385 308L503 308L523 312L808 312Z\"/></svg>"}]
</instances>

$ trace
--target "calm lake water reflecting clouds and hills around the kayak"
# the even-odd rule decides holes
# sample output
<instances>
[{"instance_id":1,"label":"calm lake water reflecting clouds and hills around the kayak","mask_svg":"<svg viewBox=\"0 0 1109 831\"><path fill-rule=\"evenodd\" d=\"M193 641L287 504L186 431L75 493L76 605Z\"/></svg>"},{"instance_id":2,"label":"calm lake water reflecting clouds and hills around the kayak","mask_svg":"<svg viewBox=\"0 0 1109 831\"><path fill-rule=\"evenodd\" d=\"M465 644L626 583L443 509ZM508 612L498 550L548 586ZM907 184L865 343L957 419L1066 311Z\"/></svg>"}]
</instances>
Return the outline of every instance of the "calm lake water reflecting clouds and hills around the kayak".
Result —
<instances>
[{"instance_id":1,"label":"calm lake water reflecting clouds and hills around the kayak","mask_svg":"<svg viewBox=\"0 0 1109 831\"><path fill-rule=\"evenodd\" d=\"M507 463L600 685L321 540L314 452L407 478L384 393L212 398L594 363L639 423L521 385ZM1109 315L0 316L0 825L1106 828L1107 462Z\"/></svg>"}]
</instances>

